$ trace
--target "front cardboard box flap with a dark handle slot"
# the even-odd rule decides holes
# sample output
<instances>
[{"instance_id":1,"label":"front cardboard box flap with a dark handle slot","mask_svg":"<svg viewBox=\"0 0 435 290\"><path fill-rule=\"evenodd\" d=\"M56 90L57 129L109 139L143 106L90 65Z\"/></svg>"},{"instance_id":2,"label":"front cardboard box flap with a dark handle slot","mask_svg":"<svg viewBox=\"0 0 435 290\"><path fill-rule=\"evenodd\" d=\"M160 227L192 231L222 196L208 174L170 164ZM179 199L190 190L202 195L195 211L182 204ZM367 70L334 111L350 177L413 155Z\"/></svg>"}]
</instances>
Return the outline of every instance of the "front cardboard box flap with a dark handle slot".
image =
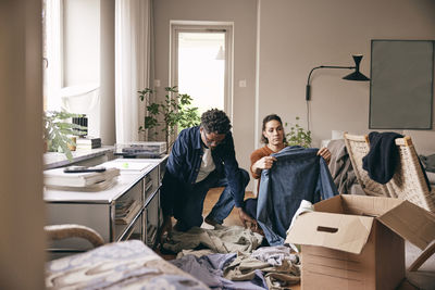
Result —
<instances>
[{"instance_id":1,"label":"front cardboard box flap with a dark handle slot","mask_svg":"<svg viewBox=\"0 0 435 290\"><path fill-rule=\"evenodd\" d=\"M296 218L286 242L359 254L369 239L373 220L369 216L306 213Z\"/></svg>"}]
</instances>

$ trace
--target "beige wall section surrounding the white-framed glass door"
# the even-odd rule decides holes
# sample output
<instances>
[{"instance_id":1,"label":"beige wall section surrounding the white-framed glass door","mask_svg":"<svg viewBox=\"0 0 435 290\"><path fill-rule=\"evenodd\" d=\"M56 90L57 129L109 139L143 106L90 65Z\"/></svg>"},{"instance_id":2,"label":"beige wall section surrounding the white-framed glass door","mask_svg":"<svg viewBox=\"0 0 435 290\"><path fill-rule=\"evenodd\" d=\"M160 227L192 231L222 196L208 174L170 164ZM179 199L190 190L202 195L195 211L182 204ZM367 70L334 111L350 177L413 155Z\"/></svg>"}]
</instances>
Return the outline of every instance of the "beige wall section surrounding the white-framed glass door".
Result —
<instances>
[{"instance_id":1,"label":"beige wall section surrounding the white-framed glass door","mask_svg":"<svg viewBox=\"0 0 435 290\"><path fill-rule=\"evenodd\" d=\"M256 0L157 0L154 8L156 79L169 85L170 21L234 22L233 131L240 167L249 168L253 151L256 88ZM238 80L247 87L239 88ZM162 97L162 94L160 94ZM251 186L250 186L251 188Z\"/></svg>"}]
</instances>

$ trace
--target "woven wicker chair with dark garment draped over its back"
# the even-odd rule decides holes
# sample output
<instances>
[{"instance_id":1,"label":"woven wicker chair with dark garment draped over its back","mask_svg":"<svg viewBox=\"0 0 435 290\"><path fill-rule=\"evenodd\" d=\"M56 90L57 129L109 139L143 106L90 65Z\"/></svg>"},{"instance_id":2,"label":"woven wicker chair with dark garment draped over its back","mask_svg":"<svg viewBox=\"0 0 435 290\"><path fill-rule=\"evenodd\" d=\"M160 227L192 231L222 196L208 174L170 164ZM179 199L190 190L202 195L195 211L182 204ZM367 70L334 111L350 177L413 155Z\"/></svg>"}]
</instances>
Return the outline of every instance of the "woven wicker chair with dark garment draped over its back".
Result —
<instances>
[{"instance_id":1,"label":"woven wicker chair with dark garment draped over its back","mask_svg":"<svg viewBox=\"0 0 435 290\"><path fill-rule=\"evenodd\" d=\"M393 178L385 185L371 179L369 174L362 168L362 157L370 150L369 137L366 135L356 136L347 133L344 137L358 182L365 194L408 200L435 214L435 189L427 187L419 156L410 137L396 139L400 161L397 164ZM432 243L412 263L409 270L417 270L434 253L435 243Z\"/></svg>"}]
</instances>

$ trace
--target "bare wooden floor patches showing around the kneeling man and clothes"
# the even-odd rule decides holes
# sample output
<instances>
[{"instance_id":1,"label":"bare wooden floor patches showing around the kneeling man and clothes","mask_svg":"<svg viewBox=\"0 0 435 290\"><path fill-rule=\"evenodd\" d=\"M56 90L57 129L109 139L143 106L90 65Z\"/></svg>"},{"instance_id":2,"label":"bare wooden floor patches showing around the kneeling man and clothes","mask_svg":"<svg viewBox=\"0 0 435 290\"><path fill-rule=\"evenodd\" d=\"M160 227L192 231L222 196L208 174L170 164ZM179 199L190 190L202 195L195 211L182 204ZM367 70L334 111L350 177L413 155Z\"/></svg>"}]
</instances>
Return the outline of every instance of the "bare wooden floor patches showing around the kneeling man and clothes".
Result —
<instances>
[{"instance_id":1,"label":"bare wooden floor patches showing around the kneeling man and clothes","mask_svg":"<svg viewBox=\"0 0 435 290\"><path fill-rule=\"evenodd\" d=\"M204 206L203 206L203 212L202 212L203 217L206 217L210 213L211 209L213 209L213 205L219 200L219 197L221 196L221 192L223 189L224 188L212 188L209 190L209 192L207 193L207 197L206 197L206 201L204 201ZM254 196L252 194L251 191L247 191L245 193L245 199L248 199L248 198L254 198ZM172 223L174 225L175 219L173 219ZM233 212L229 214L229 216L227 218L225 218L224 226L243 226L240 219L238 218L238 214L236 213L235 210L233 210ZM212 226L210 226L206 223L202 223L201 227L213 228ZM165 260L175 259L174 255L163 255L163 254L160 254L160 255ZM299 285L293 286L291 290L300 290L300 286Z\"/></svg>"}]
</instances>

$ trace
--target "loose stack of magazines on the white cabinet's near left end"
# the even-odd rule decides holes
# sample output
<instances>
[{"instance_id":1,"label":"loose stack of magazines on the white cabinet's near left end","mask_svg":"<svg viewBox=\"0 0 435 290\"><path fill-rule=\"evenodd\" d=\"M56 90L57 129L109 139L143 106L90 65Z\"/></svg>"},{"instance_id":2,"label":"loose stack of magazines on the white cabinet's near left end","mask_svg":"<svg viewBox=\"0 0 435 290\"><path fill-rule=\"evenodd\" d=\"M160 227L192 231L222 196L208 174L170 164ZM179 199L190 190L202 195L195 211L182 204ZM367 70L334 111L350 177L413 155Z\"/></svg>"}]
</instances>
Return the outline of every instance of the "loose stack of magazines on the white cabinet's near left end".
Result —
<instances>
[{"instance_id":1,"label":"loose stack of magazines on the white cabinet's near left end","mask_svg":"<svg viewBox=\"0 0 435 290\"><path fill-rule=\"evenodd\" d=\"M117 168L89 173L64 173L64 168L55 168L44 172L44 185L58 190L100 191L112 187L119 175Z\"/></svg>"}]
</instances>

